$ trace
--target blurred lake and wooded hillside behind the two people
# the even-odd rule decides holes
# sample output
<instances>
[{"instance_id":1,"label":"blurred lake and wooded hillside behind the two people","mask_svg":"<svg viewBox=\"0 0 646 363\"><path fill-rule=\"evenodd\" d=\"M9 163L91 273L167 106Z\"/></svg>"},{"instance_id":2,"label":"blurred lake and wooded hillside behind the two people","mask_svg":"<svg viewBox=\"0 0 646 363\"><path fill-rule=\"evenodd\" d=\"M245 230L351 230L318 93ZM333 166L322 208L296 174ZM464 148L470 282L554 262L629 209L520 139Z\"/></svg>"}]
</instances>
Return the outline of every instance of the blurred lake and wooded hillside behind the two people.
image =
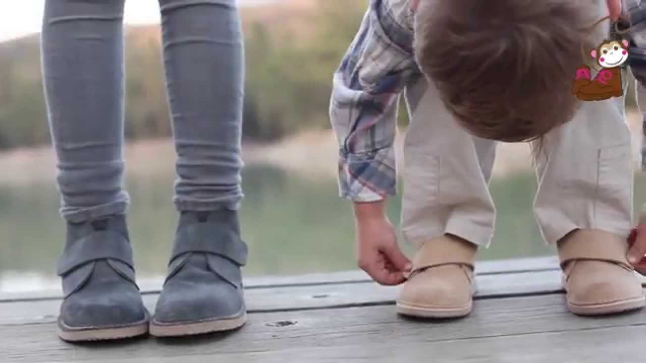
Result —
<instances>
[{"instance_id":1,"label":"blurred lake and wooded hillside behind the two people","mask_svg":"<svg viewBox=\"0 0 646 363\"><path fill-rule=\"evenodd\" d=\"M64 241L40 68L43 1L17 3L0 5L0 293L57 289L54 270ZM130 231L138 278L158 280L176 223L158 4L126 3ZM241 211L250 247L247 276L356 268L353 214L338 196L328 103L332 74L367 3L240 0L247 55ZM629 121L637 161L641 116L634 94ZM408 122L403 108L398 122L401 147ZM501 145L491 183L497 230L481 260L554 254L534 222L535 190L527 145ZM395 224L400 197L388 205ZM636 210L645 197L646 179L638 173ZM410 246L402 247L410 253Z\"/></svg>"}]
</instances>

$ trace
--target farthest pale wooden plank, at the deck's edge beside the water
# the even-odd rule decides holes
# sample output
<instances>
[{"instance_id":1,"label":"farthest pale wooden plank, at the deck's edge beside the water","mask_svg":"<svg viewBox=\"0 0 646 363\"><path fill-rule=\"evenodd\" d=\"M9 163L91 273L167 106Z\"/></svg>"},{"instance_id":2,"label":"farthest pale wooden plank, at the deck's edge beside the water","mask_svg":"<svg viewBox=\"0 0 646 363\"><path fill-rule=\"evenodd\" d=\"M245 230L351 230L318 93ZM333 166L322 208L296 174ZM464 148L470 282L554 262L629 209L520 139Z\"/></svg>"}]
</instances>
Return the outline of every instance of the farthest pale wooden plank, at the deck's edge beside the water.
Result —
<instances>
[{"instance_id":1,"label":"farthest pale wooden plank, at the deck's edge beside the water","mask_svg":"<svg viewBox=\"0 0 646 363\"><path fill-rule=\"evenodd\" d=\"M539 258L514 258L511 260L482 261L477 264L477 275L501 275L530 271L556 271L559 269L555 256ZM312 273L298 276L253 276L244 279L246 289L266 287L289 287L307 285L339 285L371 282L370 276L363 271L340 271L335 273ZM159 293L163 278L140 280L143 293ZM47 300L61 298L60 289L8 293L0 291L0 302L11 300Z\"/></svg>"}]
</instances>

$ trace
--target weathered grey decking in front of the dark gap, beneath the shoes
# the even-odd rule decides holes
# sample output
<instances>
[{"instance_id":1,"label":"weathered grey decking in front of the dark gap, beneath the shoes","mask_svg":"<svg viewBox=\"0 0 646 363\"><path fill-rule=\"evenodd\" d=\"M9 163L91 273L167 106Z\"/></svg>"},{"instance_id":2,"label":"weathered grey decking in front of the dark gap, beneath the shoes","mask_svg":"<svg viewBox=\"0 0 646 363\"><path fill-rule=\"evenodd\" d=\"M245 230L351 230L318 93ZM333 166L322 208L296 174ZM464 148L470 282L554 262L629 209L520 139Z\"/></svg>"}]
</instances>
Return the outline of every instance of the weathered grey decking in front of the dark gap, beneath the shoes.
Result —
<instances>
[{"instance_id":1,"label":"weathered grey decking in front of the dark gap, beneath the shoes","mask_svg":"<svg viewBox=\"0 0 646 363\"><path fill-rule=\"evenodd\" d=\"M251 314L224 335L93 345L61 342L55 327L0 326L3 362L643 362L646 310L584 318L548 295L481 300L472 315L443 321L402 318L392 306L282 311Z\"/></svg>"}]
</instances>

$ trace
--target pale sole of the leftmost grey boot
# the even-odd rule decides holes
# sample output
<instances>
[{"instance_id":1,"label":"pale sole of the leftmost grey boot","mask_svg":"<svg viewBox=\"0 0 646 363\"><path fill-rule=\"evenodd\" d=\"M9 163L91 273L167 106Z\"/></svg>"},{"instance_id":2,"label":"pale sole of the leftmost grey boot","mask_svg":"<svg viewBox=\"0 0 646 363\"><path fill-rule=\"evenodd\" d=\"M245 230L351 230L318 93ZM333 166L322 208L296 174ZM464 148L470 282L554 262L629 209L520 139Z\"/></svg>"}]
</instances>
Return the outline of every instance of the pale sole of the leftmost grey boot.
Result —
<instances>
[{"instance_id":1,"label":"pale sole of the leftmost grey boot","mask_svg":"<svg viewBox=\"0 0 646 363\"><path fill-rule=\"evenodd\" d=\"M71 327L67 326L61 318L58 319L58 337L67 342L84 342L93 340L116 340L139 337L148 333L149 314L141 322L134 324L108 326L108 327Z\"/></svg>"}]
</instances>

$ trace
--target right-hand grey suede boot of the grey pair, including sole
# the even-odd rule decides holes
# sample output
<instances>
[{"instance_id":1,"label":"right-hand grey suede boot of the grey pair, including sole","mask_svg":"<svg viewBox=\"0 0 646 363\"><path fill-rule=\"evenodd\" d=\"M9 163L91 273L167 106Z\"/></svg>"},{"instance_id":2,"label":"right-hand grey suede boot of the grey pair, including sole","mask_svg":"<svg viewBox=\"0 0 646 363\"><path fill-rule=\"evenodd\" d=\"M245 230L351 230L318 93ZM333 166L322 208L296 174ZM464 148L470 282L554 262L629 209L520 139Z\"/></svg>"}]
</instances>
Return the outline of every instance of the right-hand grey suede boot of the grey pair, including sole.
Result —
<instances>
[{"instance_id":1,"label":"right-hand grey suede boot of the grey pair, including sole","mask_svg":"<svg viewBox=\"0 0 646 363\"><path fill-rule=\"evenodd\" d=\"M236 211L182 213L151 335L176 337L244 325L240 269L246 261Z\"/></svg>"}]
</instances>

